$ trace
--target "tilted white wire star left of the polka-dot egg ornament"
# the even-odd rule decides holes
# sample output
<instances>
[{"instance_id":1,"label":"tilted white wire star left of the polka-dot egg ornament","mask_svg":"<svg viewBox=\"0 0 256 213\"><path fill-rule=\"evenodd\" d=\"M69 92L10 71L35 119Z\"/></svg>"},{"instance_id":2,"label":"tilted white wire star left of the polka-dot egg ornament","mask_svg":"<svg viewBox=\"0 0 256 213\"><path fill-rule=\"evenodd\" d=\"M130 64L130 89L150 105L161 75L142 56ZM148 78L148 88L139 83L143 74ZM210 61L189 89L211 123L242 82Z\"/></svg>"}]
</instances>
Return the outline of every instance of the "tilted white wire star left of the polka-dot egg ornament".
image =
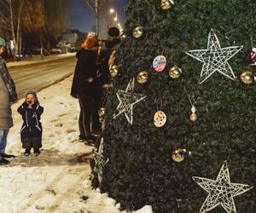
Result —
<instances>
[{"instance_id":1,"label":"tilted white wire star left of the polka-dot egg ornament","mask_svg":"<svg viewBox=\"0 0 256 213\"><path fill-rule=\"evenodd\" d=\"M116 93L119 99L119 106L116 108L118 113L113 115L113 119L117 118L120 114L125 113L125 118L127 119L128 123L132 124L133 106L146 98L144 95L133 92L134 82L135 79L132 78L125 90L118 90Z\"/></svg>"}]
</instances>

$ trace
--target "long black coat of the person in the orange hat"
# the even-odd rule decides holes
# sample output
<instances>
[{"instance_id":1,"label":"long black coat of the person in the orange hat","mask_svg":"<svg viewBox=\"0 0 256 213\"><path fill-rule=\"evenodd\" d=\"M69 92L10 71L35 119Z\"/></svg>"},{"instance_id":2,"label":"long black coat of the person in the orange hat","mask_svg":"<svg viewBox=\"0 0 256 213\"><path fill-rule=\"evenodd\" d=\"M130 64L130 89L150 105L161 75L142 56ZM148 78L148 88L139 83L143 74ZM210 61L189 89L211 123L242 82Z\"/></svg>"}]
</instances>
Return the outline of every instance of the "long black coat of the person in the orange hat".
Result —
<instances>
[{"instance_id":1,"label":"long black coat of the person in the orange hat","mask_svg":"<svg viewBox=\"0 0 256 213\"><path fill-rule=\"evenodd\" d=\"M79 95L88 95L96 98L99 95L96 79L96 52L89 49L79 49L76 55L78 61L75 67L71 95L79 98ZM88 82L93 78L93 82Z\"/></svg>"}]
</instances>

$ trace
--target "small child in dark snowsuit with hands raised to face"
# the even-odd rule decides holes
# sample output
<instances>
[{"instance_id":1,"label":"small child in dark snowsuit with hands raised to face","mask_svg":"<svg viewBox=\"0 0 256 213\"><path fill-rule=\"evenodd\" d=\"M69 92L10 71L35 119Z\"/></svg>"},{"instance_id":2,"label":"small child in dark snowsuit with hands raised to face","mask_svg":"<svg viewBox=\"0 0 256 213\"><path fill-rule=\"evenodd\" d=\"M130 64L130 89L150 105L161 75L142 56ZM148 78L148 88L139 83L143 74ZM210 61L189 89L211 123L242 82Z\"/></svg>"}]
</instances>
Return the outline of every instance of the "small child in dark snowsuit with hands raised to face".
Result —
<instances>
[{"instance_id":1,"label":"small child in dark snowsuit with hands raised to face","mask_svg":"<svg viewBox=\"0 0 256 213\"><path fill-rule=\"evenodd\" d=\"M44 107L38 102L37 94L33 91L26 93L26 101L18 108L18 112L22 115L23 124L20 130L22 148L25 148L25 156L29 156L31 149L34 155L40 154L39 148L42 147L42 124L40 123L41 114Z\"/></svg>"}]
</instances>

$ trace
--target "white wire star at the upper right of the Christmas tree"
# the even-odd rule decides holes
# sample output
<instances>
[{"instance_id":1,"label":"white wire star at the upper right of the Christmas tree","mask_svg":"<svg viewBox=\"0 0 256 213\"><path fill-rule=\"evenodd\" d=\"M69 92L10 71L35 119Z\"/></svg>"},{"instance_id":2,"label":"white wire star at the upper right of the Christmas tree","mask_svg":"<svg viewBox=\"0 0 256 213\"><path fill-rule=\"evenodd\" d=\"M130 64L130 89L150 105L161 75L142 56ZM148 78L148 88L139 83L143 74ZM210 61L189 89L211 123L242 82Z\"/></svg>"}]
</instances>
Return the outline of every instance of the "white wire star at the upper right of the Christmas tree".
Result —
<instances>
[{"instance_id":1,"label":"white wire star at the upper right of the Christmas tree","mask_svg":"<svg viewBox=\"0 0 256 213\"><path fill-rule=\"evenodd\" d=\"M208 35L207 49L195 49L186 52L187 55L204 63L201 69L201 83L205 82L214 72L219 72L225 77L235 80L234 74L228 60L236 55L242 46L221 48L218 37L213 30Z\"/></svg>"}]
</instances>

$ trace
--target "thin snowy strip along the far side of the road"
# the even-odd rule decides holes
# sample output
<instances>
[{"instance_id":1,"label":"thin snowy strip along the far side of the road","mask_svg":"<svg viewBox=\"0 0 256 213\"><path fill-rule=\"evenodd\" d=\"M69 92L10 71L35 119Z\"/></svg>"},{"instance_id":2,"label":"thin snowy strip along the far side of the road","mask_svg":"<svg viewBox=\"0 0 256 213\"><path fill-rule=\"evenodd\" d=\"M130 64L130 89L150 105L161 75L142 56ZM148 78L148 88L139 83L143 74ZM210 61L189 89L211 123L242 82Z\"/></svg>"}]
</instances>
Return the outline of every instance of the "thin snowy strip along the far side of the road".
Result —
<instances>
[{"instance_id":1,"label":"thin snowy strip along the far side of the road","mask_svg":"<svg viewBox=\"0 0 256 213\"><path fill-rule=\"evenodd\" d=\"M37 63L44 63L49 60L59 60L63 58L68 57L74 57L76 53L67 53L67 54L59 54L59 55L49 55L44 56L44 60L41 59L41 55L32 55L32 58L29 56L25 59L21 59L20 61L15 62L8 62L7 66L24 66L24 65L31 65L31 64L37 64Z\"/></svg>"}]
</instances>

